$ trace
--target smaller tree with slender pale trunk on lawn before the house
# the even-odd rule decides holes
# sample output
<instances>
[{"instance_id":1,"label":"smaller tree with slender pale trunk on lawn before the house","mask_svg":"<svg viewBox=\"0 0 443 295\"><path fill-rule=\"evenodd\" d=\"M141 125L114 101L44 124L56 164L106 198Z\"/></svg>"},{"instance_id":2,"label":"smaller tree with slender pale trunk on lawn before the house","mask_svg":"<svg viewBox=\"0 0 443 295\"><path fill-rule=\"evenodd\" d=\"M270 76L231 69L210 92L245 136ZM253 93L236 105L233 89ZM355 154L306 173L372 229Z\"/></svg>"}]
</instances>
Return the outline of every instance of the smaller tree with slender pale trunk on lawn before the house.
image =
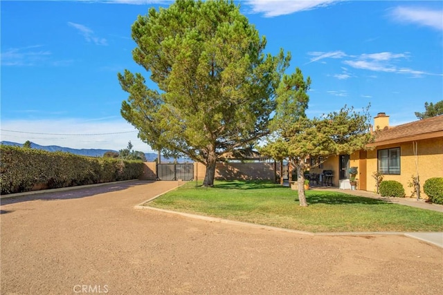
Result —
<instances>
[{"instance_id":1,"label":"smaller tree with slender pale trunk on lawn before the house","mask_svg":"<svg viewBox=\"0 0 443 295\"><path fill-rule=\"evenodd\" d=\"M365 149L373 137L369 132L369 106L363 113L357 113L354 108L344 106L339 112L329 113L320 118L307 118L305 109L309 98L306 91L309 89L310 80L308 78L303 82L301 72L298 74L293 80L298 86L293 89L286 87L286 93L281 94L287 95L287 98L279 97L282 99L278 100L280 106L271 125L277 140L271 140L262 152L271 155L271 151L275 151L275 147L278 146L282 155L289 158L297 169L300 206L307 206L303 187L304 172L307 169L305 159L321 156L326 160L331 155L350 154Z\"/></svg>"}]
</instances>

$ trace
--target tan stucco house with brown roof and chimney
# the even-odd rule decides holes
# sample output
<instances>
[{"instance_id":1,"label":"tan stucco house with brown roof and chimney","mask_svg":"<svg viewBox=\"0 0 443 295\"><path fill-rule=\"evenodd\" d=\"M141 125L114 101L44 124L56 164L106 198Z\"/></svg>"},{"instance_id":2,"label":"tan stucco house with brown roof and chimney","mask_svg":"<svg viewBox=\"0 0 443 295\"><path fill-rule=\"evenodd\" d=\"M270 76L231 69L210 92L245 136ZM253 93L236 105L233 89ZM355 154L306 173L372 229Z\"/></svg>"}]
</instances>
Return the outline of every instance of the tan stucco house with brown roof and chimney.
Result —
<instances>
[{"instance_id":1,"label":"tan stucco house with brown roof and chimney","mask_svg":"<svg viewBox=\"0 0 443 295\"><path fill-rule=\"evenodd\" d=\"M379 113L374 117L374 130L378 130L376 139L368 144L367 151L329 157L321 169L316 167L311 172L332 170L334 186L350 189L347 169L357 166L357 188L375 191L372 173L379 171L383 180L403 184L406 196L413 190L408 187L413 175L419 175L422 187L428 178L443 177L443 115L390 126L389 116ZM426 195L422 193L422 197Z\"/></svg>"}]
</instances>

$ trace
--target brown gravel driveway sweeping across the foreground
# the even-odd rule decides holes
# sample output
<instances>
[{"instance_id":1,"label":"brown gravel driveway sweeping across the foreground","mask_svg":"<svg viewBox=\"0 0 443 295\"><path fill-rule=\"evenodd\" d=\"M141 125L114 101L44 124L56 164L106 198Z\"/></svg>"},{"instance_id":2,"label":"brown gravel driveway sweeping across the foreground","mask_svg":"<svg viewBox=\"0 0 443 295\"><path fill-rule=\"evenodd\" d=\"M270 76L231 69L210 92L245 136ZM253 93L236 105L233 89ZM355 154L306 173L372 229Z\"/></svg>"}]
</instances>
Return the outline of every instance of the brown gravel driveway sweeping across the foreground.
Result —
<instances>
[{"instance_id":1,"label":"brown gravel driveway sweeping across the foreground","mask_svg":"<svg viewBox=\"0 0 443 295\"><path fill-rule=\"evenodd\" d=\"M177 182L4 199L1 294L443 294L443 249L305 236L135 204Z\"/></svg>"}]
</instances>

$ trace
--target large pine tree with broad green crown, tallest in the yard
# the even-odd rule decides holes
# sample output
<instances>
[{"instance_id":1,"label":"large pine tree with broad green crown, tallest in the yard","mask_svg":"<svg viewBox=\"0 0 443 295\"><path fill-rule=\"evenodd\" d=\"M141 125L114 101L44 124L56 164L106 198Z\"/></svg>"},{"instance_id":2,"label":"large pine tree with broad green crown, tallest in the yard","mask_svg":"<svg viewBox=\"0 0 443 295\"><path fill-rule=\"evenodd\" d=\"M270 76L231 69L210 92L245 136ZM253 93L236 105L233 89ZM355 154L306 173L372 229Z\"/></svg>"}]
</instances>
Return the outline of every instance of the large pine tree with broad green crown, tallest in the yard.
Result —
<instances>
[{"instance_id":1,"label":"large pine tree with broad green crown, tallest in the yard","mask_svg":"<svg viewBox=\"0 0 443 295\"><path fill-rule=\"evenodd\" d=\"M156 89L140 73L119 73L129 93L121 114L153 149L206 165L204 185L213 186L221 154L269 133L275 89L289 54L265 54L266 39L232 1L151 8L133 24L132 38L134 61Z\"/></svg>"}]
</instances>

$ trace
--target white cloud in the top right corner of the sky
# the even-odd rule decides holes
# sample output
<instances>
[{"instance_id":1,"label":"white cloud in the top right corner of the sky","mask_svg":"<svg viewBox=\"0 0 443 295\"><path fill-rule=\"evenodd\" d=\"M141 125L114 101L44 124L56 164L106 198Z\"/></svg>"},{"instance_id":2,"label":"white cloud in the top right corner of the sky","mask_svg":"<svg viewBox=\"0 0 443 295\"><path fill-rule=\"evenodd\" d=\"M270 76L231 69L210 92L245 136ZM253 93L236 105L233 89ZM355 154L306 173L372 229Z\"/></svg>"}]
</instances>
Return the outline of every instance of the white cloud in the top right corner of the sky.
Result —
<instances>
[{"instance_id":1,"label":"white cloud in the top right corner of the sky","mask_svg":"<svg viewBox=\"0 0 443 295\"><path fill-rule=\"evenodd\" d=\"M443 10L398 6L391 10L390 15L395 21L402 23L416 23L443 30Z\"/></svg>"}]
</instances>

